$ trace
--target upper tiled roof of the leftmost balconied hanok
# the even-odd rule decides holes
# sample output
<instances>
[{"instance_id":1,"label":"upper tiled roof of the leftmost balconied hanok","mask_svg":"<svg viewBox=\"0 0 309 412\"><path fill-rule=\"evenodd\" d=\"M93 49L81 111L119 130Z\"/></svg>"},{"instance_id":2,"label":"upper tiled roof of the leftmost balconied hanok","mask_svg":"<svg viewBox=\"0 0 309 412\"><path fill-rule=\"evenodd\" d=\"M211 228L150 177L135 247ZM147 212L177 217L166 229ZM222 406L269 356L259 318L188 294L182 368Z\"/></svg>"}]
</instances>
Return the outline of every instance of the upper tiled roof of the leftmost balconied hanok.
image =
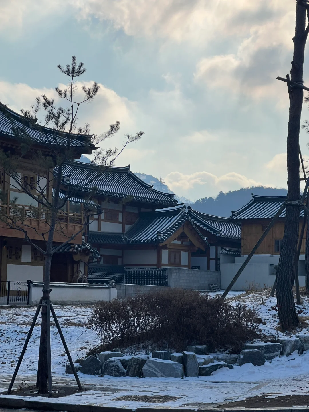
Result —
<instances>
[{"instance_id":1,"label":"upper tiled roof of the leftmost balconied hanok","mask_svg":"<svg viewBox=\"0 0 309 412\"><path fill-rule=\"evenodd\" d=\"M24 133L35 143L40 145L66 146L68 144L68 133L55 131L49 127L42 127L39 124L36 124L35 121L27 119L26 117L13 112L13 110L5 108L1 103L0 109L0 136L14 138L15 136L12 127L16 127L20 130L21 134ZM90 137L91 136L88 135L71 133L70 145L73 147L94 148L94 145L90 143ZM89 149L87 152L89 152Z\"/></svg>"}]
</instances>

